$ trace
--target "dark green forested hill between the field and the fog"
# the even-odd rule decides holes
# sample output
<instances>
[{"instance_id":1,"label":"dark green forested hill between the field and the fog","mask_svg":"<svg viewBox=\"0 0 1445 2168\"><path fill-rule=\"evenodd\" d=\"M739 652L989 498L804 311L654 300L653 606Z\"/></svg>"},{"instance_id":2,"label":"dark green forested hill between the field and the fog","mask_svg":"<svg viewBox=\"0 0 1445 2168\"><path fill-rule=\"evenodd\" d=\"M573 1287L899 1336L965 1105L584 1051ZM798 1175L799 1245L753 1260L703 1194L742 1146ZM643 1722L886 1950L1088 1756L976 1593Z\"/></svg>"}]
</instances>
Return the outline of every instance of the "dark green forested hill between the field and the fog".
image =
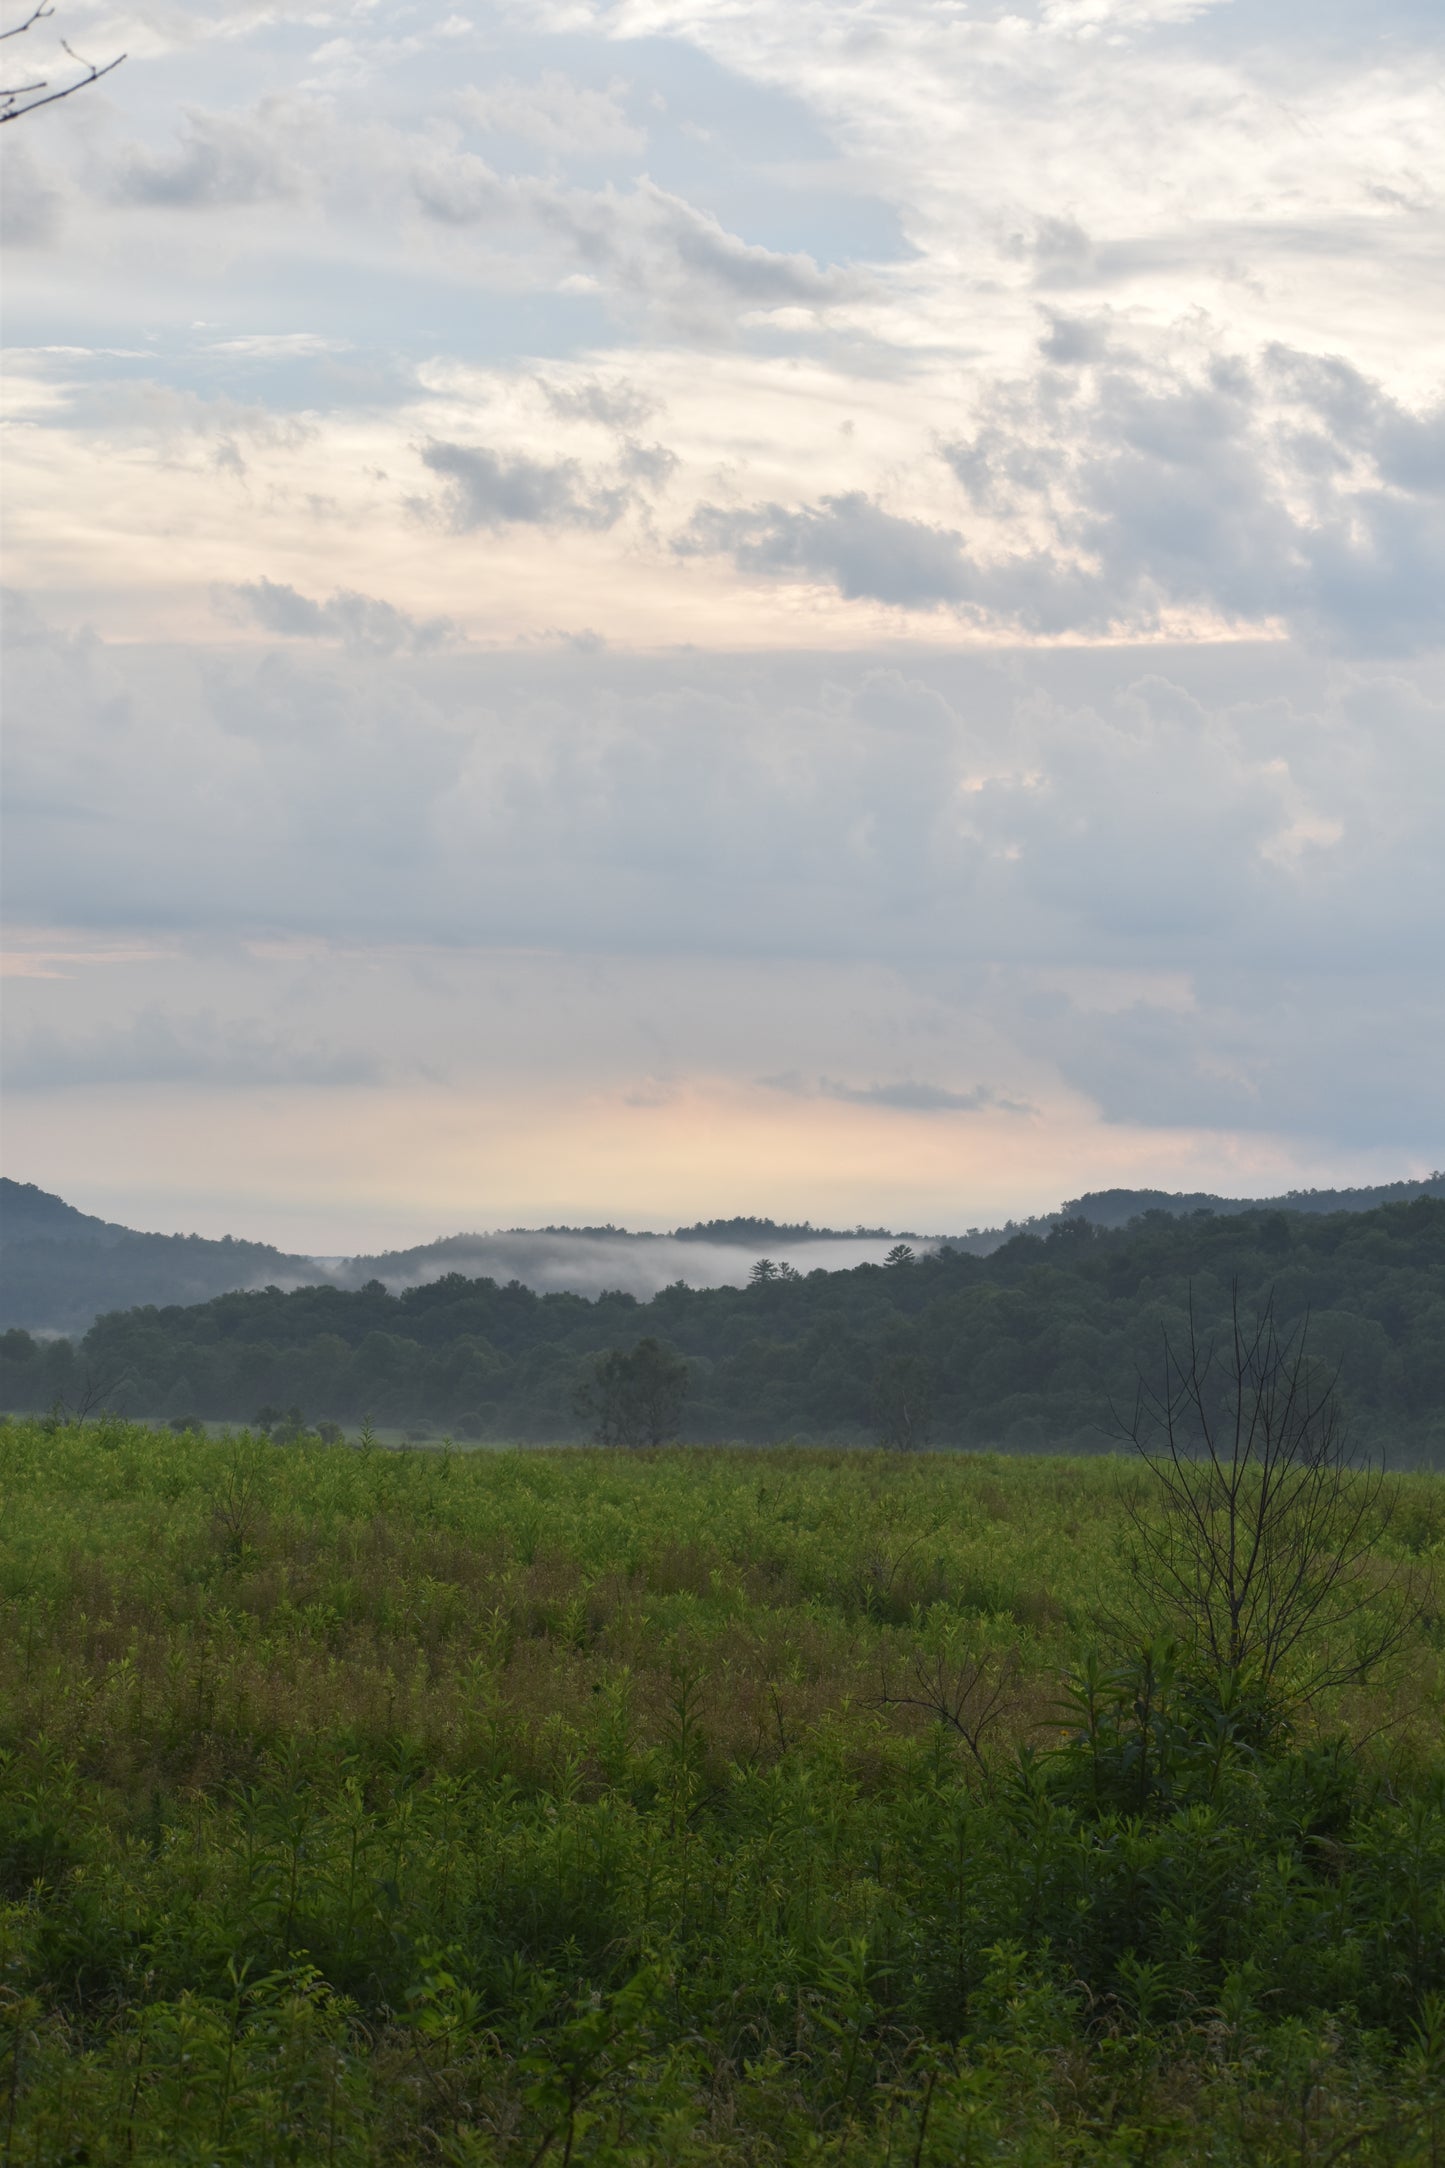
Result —
<instances>
[{"instance_id":1,"label":"dark green forested hill between the field and the fog","mask_svg":"<svg viewBox=\"0 0 1445 2168\"><path fill-rule=\"evenodd\" d=\"M0 1335L11 1407L100 1394L149 1416L425 1424L459 1437L574 1437L574 1392L602 1348L656 1335L691 1366L685 1435L867 1440L908 1383L936 1444L1096 1448L1118 1440L1137 1366L1274 1292L1313 1314L1356 1437L1445 1466L1445 1201L1374 1212L1150 1214L1109 1231L1070 1218L988 1257L962 1251L747 1288L587 1301L446 1275L403 1294L225 1294L100 1318L82 1342Z\"/></svg>"}]
</instances>

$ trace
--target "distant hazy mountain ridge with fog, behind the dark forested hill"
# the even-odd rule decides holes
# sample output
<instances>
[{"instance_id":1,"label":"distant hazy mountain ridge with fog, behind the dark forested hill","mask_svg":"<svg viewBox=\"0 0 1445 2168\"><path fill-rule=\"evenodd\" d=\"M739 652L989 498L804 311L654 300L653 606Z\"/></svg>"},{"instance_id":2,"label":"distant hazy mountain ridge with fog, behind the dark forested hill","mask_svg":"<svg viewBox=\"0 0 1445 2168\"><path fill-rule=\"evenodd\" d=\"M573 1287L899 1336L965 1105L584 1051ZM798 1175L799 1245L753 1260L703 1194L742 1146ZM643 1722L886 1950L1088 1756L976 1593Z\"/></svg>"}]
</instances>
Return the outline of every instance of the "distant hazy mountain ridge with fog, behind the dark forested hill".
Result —
<instances>
[{"instance_id":1,"label":"distant hazy mountain ridge with fog, behind the dark forested hill","mask_svg":"<svg viewBox=\"0 0 1445 2168\"><path fill-rule=\"evenodd\" d=\"M728 1286L747 1277L752 1260L771 1255L799 1270L880 1262L882 1249L908 1240L986 1257L1020 1231L1046 1231L1062 1218L1124 1227L1146 1212L1367 1212L1415 1197L1445 1197L1445 1173L1419 1182L1387 1182L1352 1190L1291 1190L1285 1197L1215 1197L1205 1190L1090 1190L1059 1208L1005 1227L973 1227L960 1236L914 1236L888 1227L812 1227L737 1216L698 1221L672 1234L626 1227L511 1227L498 1234L455 1234L412 1249L368 1257L316 1260L240 1242L232 1236L141 1234L80 1212L32 1182L0 1177L0 1329L84 1331L108 1309L206 1303L245 1288L416 1288L446 1273L520 1279L539 1292L596 1294L615 1288L648 1299L687 1279Z\"/></svg>"}]
</instances>

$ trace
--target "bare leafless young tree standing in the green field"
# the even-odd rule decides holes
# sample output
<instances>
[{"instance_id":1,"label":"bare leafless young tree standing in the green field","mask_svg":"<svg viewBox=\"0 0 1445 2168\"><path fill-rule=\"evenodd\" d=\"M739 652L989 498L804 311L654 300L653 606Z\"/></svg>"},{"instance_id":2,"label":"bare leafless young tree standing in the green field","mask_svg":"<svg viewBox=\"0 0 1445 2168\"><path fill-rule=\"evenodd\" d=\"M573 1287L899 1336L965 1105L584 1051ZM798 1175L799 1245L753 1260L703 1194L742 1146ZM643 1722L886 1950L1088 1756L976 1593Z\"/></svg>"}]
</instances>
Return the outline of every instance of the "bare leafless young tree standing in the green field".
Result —
<instances>
[{"instance_id":1,"label":"bare leafless young tree standing in the green field","mask_svg":"<svg viewBox=\"0 0 1445 2168\"><path fill-rule=\"evenodd\" d=\"M1354 1466L1335 1372L1306 1338L1272 1305L1241 1318L1237 1290L1218 1342L1189 1309L1127 1424L1150 1474L1129 1500L1140 1615L1276 1711L1365 1678L1419 1613L1376 1552L1384 1470Z\"/></svg>"}]
</instances>

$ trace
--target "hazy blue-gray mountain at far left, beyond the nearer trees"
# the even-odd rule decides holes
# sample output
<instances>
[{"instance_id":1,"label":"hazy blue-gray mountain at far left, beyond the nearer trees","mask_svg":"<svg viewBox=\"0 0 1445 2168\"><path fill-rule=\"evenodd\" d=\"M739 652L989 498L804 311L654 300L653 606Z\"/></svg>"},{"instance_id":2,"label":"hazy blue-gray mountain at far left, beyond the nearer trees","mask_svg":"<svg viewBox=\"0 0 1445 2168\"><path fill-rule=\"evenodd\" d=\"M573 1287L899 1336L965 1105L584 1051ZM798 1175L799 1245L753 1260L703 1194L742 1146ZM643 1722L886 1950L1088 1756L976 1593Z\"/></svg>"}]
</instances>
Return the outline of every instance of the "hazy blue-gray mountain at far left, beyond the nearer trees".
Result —
<instances>
[{"instance_id":1,"label":"hazy blue-gray mountain at far left, beyond the nearer trees","mask_svg":"<svg viewBox=\"0 0 1445 2168\"><path fill-rule=\"evenodd\" d=\"M71 1333L106 1309L208 1303L238 1288L299 1288L321 1277L310 1257L288 1257L269 1242L136 1234L0 1175L0 1327Z\"/></svg>"}]
</instances>

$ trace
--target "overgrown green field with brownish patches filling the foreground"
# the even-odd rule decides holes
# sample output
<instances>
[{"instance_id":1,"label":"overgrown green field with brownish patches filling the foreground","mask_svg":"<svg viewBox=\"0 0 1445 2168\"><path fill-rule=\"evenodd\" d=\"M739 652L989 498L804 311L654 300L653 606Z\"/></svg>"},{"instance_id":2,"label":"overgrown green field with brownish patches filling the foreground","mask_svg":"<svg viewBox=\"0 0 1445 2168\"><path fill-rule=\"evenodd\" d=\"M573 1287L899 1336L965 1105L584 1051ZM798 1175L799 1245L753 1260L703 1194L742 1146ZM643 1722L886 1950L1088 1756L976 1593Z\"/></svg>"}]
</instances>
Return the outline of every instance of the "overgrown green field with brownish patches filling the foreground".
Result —
<instances>
[{"instance_id":1,"label":"overgrown green field with brownish patches filling the foreground","mask_svg":"<svg viewBox=\"0 0 1445 2168\"><path fill-rule=\"evenodd\" d=\"M1445 1483L1285 1724L1137 1481L0 1424L0 2159L1439 2168Z\"/></svg>"}]
</instances>

